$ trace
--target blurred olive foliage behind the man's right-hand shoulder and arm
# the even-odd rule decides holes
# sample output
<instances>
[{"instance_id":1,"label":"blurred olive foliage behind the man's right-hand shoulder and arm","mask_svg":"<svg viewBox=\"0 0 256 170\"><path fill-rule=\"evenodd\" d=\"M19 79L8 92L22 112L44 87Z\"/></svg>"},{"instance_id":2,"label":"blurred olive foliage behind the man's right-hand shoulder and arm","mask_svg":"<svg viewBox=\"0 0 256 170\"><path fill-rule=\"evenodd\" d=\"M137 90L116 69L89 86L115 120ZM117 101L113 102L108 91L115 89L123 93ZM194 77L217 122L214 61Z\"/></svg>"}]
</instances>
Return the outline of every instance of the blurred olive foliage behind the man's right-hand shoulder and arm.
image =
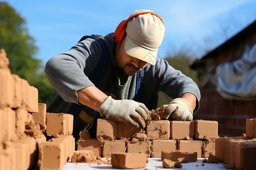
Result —
<instances>
[{"instance_id":1,"label":"blurred olive foliage behind the man's right-hand shoulder and arm","mask_svg":"<svg viewBox=\"0 0 256 170\"><path fill-rule=\"evenodd\" d=\"M200 84L199 79L197 78L197 71L190 69L189 63L192 62L192 56L189 56L185 52L178 52L174 56L169 56L165 58L169 65L174 67L176 70L180 70L183 74L192 78L193 81L197 84ZM163 104L168 104L172 100L171 97L159 92L158 97L158 107L161 107Z\"/></svg>"}]
</instances>

